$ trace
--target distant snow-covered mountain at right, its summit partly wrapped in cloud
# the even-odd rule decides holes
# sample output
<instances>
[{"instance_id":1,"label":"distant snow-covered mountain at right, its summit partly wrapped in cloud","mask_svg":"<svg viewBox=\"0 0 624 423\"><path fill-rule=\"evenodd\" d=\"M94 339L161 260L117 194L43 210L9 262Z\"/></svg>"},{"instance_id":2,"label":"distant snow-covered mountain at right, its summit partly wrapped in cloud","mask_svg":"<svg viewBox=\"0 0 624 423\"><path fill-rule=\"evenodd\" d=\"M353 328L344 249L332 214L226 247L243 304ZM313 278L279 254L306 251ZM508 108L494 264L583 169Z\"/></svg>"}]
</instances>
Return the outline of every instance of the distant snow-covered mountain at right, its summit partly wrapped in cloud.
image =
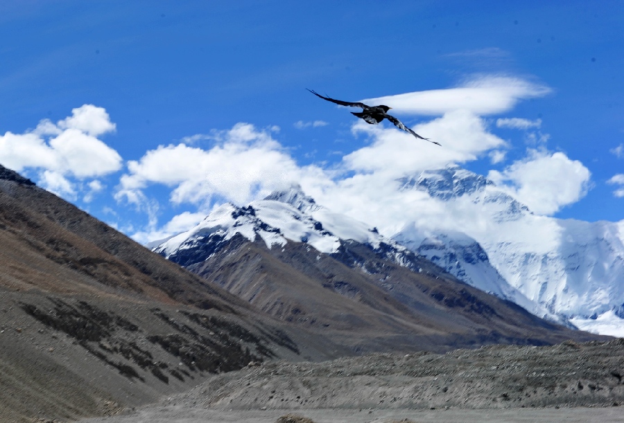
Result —
<instances>
[{"instance_id":1,"label":"distant snow-covered mountain at right, its summit partly wrapped in cloud","mask_svg":"<svg viewBox=\"0 0 624 423\"><path fill-rule=\"evenodd\" d=\"M453 210L452 228L426 229L452 234L441 240L438 257L460 256L453 240L476 240L485 253L477 267L490 273L494 267L502 278L493 285L508 284L534 307L582 329L624 334L624 221L592 223L535 215L492 181L458 167L422 172L401 183L403 190L428 192ZM424 253L429 246L421 245L423 231L407 224L397 238ZM459 276L453 263L437 263ZM521 303L515 296L508 298Z\"/></svg>"}]
</instances>

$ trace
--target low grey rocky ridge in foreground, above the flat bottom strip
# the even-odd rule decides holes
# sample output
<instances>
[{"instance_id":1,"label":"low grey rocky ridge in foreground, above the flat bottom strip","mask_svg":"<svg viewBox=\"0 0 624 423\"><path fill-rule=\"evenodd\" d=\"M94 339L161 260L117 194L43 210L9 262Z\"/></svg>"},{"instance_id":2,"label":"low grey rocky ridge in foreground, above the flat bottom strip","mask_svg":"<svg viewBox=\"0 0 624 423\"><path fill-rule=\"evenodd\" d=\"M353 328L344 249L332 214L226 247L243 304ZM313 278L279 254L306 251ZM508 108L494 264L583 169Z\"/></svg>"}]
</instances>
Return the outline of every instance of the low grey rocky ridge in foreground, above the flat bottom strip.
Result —
<instances>
[{"instance_id":1,"label":"low grey rocky ridge in foreground, above the flat bottom strip","mask_svg":"<svg viewBox=\"0 0 624 423\"><path fill-rule=\"evenodd\" d=\"M178 397L206 408L513 408L624 405L624 340L492 345L265 363Z\"/></svg>"}]
</instances>

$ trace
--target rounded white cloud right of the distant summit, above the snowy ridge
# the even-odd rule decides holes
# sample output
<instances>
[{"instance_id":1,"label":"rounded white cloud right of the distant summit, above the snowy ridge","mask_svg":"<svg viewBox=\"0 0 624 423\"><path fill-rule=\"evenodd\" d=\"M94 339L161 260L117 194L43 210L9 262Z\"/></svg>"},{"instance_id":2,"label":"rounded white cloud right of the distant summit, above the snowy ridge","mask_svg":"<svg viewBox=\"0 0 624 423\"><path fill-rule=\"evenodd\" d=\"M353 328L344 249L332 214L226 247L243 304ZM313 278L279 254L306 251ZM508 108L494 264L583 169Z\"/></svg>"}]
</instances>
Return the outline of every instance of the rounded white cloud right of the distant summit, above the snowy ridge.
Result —
<instances>
[{"instance_id":1,"label":"rounded white cloud right of the distant summit, above the snowy ridge","mask_svg":"<svg viewBox=\"0 0 624 423\"><path fill-rule=\"evenodd\" d=\"M552 215L584 197L590 176L580 161L562 152L537 150L529 150L526 159L514 162L503 172L492 170L487 175L540 215Z\"/></svg>"}]
</instances>

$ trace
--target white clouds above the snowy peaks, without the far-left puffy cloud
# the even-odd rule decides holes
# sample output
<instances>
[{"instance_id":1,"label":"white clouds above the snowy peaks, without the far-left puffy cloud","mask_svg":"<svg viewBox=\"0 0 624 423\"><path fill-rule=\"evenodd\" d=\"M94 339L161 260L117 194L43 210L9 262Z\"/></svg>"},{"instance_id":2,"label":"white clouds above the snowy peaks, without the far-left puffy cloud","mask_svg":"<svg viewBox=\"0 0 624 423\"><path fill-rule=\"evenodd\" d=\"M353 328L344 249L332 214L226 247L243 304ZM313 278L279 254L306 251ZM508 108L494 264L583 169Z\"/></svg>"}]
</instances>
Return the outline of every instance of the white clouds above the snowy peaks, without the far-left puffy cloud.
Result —
<instances>
[{"instance_id":1,"label":"white clouds above the snowy peaks, without the far-left puffy cloud","mask_svg":"<svg viewBox=\"0 0 624 423\"><path fill-rule=\"evenodd\" d=\"M232 129L205 136L213 143L209 148L184 143L161 145L138 161L128 162L128 172L121 177L116 198L146 204L150 201L146 194L150 186L166 186L173 204L193 205L207 213L215 202L242 205L297 183L320 204L377 226L386 235L401 230L406 210L418 210L408 214L423 227L454 228L454 222L474 222L478 226L483 224L483 218L478 213L467 217L474 211L469 204L451 208L426 192L400 191L397 179L478 159L503 163L510 145L491 132L489 120L483 115L509 111L520 100L549 92L548 87L517 78L487 77L448 90L367 100L391 104L405 114L437 115L412 127L442 147L418 141L392 125L368 125L358 120L352 126L352 135L362 140L364 146L344 154L331 167L300 166L272 138L270 130L239 123ZM516 129L541 125L540 120L499 121L498 127ZM300 123L300 127L312 126L311 122ZM503 170L493 170L488 176L534 213L542 215L557 213L582 198L591 177L579 161L545 148L528 150L525 158ZM196 218L201 213L193 211L187 217L191 215ZM183 224L174 221L194 223L193 219L179 215L164 225L136 233L135 238L148 242L184 229Z\"/></svg>"}]
</instances>

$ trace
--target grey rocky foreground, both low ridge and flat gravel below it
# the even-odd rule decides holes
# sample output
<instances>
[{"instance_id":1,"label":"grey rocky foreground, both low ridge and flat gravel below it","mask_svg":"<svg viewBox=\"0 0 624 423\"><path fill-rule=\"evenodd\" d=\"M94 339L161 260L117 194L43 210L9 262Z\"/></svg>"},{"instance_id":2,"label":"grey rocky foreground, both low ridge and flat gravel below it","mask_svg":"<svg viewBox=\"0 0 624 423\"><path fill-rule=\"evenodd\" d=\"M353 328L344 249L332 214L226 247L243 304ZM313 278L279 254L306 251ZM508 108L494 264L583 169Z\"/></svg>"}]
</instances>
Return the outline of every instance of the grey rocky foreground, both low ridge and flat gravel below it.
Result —
<instances>
[{"instance_id":1,"label":"grey rocky foreground, both low ridge and flat gravel below it","mask_svg":"<svg viewBox=\"0 0 624 423\"><path fill-rule=\"evenodd\" d=\"M484 416L519 422L544 415L548 421L607 422L624 413L623 375L624 339L273 361L212 377L157 406L96 421L275 422L291 414L315 422L487 421ZM532 412L521 411L526 408ZM569 420L570 411L585 420Z\"/></svg>"}]
</instances>

